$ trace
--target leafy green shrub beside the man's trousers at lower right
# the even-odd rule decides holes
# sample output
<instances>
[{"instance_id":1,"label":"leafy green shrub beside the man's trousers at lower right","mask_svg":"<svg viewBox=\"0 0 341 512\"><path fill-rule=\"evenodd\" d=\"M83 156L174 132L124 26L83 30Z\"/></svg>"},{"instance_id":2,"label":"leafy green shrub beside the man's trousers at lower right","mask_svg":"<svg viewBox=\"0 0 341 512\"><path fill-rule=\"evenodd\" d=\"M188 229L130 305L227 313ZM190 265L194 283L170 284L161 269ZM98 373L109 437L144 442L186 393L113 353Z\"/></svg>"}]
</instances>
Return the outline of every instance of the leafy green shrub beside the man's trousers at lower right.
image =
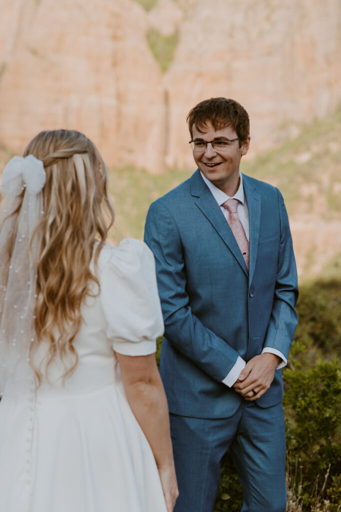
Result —
<instances>
[{"instance_id":1,"label":"leafy green shrub beside the man's trousers at lower right","mask_svg":"<svg viewBox=\"0 0 341 512\"><path fill-rule=\"evenodd\" d=\"M312 505L328 472L322 498L336 498L341 460L341 369L338 360L318 360L308 370L283 372L288 463L302 466L302 503ZM330 508L331 510L331 508Z\"/></svg>"}]
</instances>

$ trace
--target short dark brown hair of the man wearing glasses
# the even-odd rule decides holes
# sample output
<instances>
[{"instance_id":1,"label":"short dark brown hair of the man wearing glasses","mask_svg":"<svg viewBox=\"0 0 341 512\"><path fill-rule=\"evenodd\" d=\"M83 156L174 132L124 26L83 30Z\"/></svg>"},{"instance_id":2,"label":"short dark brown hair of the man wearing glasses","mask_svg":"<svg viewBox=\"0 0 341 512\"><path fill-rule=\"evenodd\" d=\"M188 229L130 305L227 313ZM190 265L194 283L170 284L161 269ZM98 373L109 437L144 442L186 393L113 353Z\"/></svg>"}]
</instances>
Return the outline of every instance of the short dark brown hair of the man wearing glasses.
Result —
<instances>
[{"instance_id":1,"label":"short dark brown hair of the man wearing glasses","mask_svg":"<svg viewBox=\"0 0 341 512\"><path fill-rule=\"evenodd\" d=\"M193 124L198 132L210 121L215 130L231 126L239 138L239 147L249 136L249 117L244 107L233 99L211 98L200 101L188 113L188 129L193 137Z\"/></svg>"}]
</instances>

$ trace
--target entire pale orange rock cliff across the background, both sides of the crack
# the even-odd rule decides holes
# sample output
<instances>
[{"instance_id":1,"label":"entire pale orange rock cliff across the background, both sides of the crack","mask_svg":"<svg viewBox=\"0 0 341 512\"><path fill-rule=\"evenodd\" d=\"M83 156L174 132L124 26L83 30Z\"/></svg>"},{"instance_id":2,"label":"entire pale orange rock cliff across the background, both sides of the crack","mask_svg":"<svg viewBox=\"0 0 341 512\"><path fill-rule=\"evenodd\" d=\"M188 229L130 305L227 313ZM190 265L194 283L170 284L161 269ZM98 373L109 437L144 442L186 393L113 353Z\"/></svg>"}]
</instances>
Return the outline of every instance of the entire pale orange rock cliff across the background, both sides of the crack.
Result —
<instances>
[{"instance_id":1,"label":"entire pale orange rock cliff across the background, both sides of the crack","mask_svg":"<svg viewBox=\"0 0 341 512\"><path fill-rule=\"evenodd\" d=\"M177 30L162 75L146 34ZM0 142L22 151L72 127L109 165L192 166L189 109L233 97L251 117L252 154L327 116L341 99L339 0L2 0Z\"/></svg>"}]
</instances>

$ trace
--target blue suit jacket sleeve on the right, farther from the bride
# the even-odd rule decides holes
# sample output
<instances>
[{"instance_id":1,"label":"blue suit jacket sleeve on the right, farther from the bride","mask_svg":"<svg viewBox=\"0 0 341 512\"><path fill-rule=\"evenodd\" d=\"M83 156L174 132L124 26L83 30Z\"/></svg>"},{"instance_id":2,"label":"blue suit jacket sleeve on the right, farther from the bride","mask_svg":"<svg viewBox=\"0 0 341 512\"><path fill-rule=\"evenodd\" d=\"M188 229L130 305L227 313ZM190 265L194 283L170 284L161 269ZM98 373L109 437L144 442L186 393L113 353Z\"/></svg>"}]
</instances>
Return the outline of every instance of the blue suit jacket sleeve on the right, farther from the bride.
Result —
<instances>
[{"instance_id":1,"label":"blue suit jacket sleeve on the right, farther from the bride","mask_svg":"<svg viewBox=\"0 0 341 512\"><path fill-rule=\"evenodd\" d=\"M295 304L299 292L289 219L279 190L277 190L277 194L281 221L280 250L274 303L272 304L269 326L263 346L277 349L288 358L293 335L298 323Z\"/></svg>"}]
</instances>

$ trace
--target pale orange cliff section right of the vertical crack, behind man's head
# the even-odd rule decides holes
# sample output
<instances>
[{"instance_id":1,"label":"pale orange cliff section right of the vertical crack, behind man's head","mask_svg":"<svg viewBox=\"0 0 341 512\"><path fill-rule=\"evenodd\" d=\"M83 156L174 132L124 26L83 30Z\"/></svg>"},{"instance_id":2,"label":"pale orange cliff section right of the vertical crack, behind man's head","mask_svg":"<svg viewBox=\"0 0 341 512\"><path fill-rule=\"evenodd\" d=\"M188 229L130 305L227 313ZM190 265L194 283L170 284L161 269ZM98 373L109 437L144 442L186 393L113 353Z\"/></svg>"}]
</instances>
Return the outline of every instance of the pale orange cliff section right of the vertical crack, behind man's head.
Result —
<instances>
[{"instance_id":1,"label":"pale orange cliff section right of the vertical crack, behind man's head","mask_svg":"<svg viewBox=\"0 0 341 512\"><path fill-rule=\"evenodd\" d=\"M297 135L314 117L327 116L341 99L340 50L338 0L198 0L181 25L165 76L169 161L191 164L188 130L179 119L212 96L245 106L251 154Z\"/></svg>"}]
</instances>

